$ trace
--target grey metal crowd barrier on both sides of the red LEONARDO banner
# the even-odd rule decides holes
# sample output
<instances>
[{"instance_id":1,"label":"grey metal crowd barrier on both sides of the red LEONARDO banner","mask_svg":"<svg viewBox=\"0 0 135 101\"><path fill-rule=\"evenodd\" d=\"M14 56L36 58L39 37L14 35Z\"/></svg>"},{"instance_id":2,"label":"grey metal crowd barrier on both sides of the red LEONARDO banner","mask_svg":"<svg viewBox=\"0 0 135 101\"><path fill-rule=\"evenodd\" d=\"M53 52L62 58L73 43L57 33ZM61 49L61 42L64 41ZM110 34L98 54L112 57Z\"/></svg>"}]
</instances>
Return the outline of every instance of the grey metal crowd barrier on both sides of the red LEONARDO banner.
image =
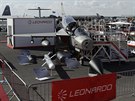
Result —
<instances>
[{"instance_id":1,"label":"grey metal crowd barrier on both sides of the red LEONARDO banner","mask_svg":"<svg viewBox=\"0 0 135 101\"><path fill-rule=\"evenodd\" d=\"M10 91L18 101L52 101L52 83L41 82L27 86L26 83L12 70L9 63L4 60L4 77ZM8 93L9 93L8 92ZM117 97L133 95L135 93L135 69L117 72L116 94ZM12 100L10 98L10 100Z\"/></svg>"}]
</instances>

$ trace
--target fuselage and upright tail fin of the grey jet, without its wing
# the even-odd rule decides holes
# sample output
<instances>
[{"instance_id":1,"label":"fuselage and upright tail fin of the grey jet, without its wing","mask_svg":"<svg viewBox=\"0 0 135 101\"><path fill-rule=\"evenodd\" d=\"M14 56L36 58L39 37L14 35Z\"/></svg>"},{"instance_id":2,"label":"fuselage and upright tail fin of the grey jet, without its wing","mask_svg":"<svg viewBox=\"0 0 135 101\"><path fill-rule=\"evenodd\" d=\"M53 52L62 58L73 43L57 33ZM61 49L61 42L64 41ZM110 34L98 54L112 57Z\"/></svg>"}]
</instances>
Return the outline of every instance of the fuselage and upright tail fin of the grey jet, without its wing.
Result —
<instances>
[{"instance_id":1,"label":"fuselage and upright tail fin of the grey jet, without its wing","mask_svg":"<svg viewBox=\"0 0 135 101\"><path fill-rule=\"evenodd\" d=\"M91 50L93 40L90 38L90 33L84 27L79 26L72 16L65 14L63 3L61 3L61 10L62 29L70 36L71 45L79 52ZM84 52L83 55L85 55Z\"/></svg>"}]
</instances>

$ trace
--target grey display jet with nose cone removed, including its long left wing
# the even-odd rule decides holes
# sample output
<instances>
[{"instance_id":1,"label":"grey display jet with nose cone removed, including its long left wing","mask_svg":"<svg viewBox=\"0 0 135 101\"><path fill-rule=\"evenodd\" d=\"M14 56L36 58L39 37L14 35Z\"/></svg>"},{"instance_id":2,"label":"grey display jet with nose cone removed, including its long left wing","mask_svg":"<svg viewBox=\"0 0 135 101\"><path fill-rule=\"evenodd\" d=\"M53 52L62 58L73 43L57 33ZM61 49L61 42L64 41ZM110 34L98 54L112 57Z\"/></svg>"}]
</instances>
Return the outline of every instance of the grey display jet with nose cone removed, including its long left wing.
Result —
<instances>
[{"instance_id":1,"label":"grey display jet with nose cone removed, including its long left wing","mask_svg":"<svg viewBox=\"0 0 135 101\"><path fill-rule=\"evenodd\" d=\"M7 37L16 36L16 37L31 37L31 43L34 42L34 38L42 38L43 41L41 43L45 43L45 46L48 46L50 43L46 40L46 37L53 35L56 37L66 36L69 37L70 44L72 48L77 50L78 52L83 52L83 55L86 51L91 51L93 47L93 40L90 38L90 33L84 28L77 25L76 21L71 16L64 16L62 18L62 28L54 33L28 33L28 34L19 34L19 35L9 35ZM56 41L60 41L59 39ZM84 52L85 51L85 52Z\"/></svg>"}]
</instances>

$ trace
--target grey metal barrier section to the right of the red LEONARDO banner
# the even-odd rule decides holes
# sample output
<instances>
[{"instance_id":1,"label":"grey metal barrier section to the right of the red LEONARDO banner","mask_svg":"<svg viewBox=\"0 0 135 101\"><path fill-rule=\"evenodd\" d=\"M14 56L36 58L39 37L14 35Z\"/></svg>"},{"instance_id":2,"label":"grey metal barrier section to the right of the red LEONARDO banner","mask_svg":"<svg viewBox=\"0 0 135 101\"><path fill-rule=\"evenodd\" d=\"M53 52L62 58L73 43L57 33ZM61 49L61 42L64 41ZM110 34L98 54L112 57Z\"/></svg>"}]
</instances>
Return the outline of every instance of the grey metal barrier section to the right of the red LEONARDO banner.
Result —
<instances>
[{"instance_id":1,"label":"grey metal barrier section to the right of the red LEONARDO banner","mask_svg":"<svg viewBox=\"0 0 135 101\"><path fill-rule=\"evenodd\" d=\"M135 93L135 69L117 72L117 96Z\"/></svg>"}]
</instances>

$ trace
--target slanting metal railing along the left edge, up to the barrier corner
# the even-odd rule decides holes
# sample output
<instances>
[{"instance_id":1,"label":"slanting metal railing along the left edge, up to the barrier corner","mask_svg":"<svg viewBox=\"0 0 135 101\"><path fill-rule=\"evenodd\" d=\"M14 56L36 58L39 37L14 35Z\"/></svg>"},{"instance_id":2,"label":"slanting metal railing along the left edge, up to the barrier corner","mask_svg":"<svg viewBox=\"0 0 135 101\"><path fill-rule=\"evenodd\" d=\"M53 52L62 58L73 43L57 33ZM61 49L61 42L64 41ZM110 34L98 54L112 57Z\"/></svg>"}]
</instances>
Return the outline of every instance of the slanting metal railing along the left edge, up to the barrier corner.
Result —
<instances>
[{"instance_id":1,"label":"slanting metal railing along the left edge, up to the barrier corner","mask_svg":"<svg viewBox=\"0 0 135 101\"><path fill-rule=\"evenodd\" d=\"M12 70L9 63L4 60L3 61L3 75L5 78L5 82L9 86L9 99L12 100L14 97L18 101L29 101L28 99L28 87L26 83Z\"/></svg>"}]
</instances>

